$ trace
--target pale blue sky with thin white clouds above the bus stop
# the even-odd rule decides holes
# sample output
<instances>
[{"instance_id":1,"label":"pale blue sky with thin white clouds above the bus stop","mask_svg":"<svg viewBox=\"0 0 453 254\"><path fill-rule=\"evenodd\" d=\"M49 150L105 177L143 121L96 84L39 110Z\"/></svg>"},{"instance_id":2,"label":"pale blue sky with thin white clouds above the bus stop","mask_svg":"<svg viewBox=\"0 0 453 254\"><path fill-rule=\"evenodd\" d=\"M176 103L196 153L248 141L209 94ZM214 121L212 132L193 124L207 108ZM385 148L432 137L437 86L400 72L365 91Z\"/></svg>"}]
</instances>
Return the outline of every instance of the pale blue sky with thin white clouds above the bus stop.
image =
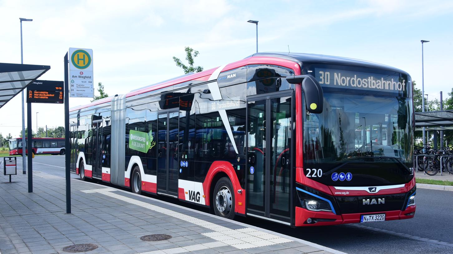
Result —
<instances>
[{"instance_id":1,"label":"pale blue sky with thin white clouds above the bus stop","mask_svg":"<svg viewBox=\"0 0 453 254\"><path fill-rule=\"evenodd\" d=\"M69 47L93 49L94 82L108 94L166 80L183 72L172 56L184 47L200 52L205 69L259 51L346 56L409 72L421 88L424 45L425 94L444 97L453 59L453 1L21 1L0 0L0 62L20 63L19 18L24 22L24 63L50 65L41 79L63 80ZM445 75L444 75L445 74ZM89 99L71 98L71 107ZM63 126L63 106L34 104L33 129ZM61 117L60 117L61 116ZM19 134L20 96L0 109L0 132ZM3 119L9 119L5 121Z\"/></svg>"}]
</instances>

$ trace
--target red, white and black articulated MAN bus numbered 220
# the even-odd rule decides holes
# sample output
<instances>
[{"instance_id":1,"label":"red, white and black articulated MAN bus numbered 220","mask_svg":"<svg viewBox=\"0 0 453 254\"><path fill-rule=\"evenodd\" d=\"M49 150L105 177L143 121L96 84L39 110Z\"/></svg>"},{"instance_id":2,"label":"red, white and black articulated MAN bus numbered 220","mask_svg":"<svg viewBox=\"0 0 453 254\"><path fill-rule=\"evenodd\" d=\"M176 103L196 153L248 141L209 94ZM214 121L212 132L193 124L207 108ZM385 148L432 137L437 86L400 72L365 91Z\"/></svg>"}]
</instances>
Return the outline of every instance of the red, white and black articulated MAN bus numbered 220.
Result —
<instances>
[{"instance_id":1,"label":"red, white and black articulated MAN bus numbered 220","mask_svg":"<svg viewBox=\"0 0 453 254\"><path fill-rule=\"evenodd\" d=\"M415 212L412 80L336 56L256 53L70 110L71 168L133 193L289 226Z\"/></svg>"}]
</instances>

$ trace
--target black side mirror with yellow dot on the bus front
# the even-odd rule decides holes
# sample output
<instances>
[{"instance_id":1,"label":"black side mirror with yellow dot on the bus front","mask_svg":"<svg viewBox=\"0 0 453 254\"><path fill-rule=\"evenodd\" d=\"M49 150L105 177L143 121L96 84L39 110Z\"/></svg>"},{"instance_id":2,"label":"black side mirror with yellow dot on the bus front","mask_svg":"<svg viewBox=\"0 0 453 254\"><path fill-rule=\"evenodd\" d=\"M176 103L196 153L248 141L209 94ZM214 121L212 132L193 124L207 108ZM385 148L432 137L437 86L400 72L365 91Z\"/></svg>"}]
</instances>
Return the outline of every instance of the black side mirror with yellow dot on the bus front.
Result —
<instances>
[{"instance_id":1,"label":"black side mirror with yellow dot on the bus front","mask_svg":"<svg viewBox=\"0 0 453 254\"><path fill-rule=\"evenodd\" d=\"M286 81L290 84L302 83L305 106L309 113L323 113L324 94L323 88L319 85L318 80L316 80L312 75L297 75L286 77Z\"/></svg>"}]
</instances>

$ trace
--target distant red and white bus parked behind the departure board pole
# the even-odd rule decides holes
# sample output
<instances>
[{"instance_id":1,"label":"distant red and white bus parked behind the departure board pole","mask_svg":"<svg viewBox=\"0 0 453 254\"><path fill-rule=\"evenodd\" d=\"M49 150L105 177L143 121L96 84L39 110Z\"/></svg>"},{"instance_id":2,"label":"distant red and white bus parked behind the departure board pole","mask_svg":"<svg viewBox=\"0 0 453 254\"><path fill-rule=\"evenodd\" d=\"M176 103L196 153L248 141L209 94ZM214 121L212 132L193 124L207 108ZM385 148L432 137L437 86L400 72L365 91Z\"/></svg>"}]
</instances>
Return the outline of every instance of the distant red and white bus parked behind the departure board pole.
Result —
<instances>
[{"instance_id":1,"label":"distant red and white bus parked behind the departure board pole","mask_svg":"<svg viewBox=\"0 0 453 254\"><path fill-rule=\"evenodd\" d=\"M10 155L22 155L22 138L17 137L10 139ZM25 138L27 142L27 138ZM32 138L31 141L33 153L37 154L51 154L51 155L64 155L64 138L42 137ZM26 147L26 146L25 146ZM25 150L28 153L27 150Z\"/></svg>"}]
</instances>

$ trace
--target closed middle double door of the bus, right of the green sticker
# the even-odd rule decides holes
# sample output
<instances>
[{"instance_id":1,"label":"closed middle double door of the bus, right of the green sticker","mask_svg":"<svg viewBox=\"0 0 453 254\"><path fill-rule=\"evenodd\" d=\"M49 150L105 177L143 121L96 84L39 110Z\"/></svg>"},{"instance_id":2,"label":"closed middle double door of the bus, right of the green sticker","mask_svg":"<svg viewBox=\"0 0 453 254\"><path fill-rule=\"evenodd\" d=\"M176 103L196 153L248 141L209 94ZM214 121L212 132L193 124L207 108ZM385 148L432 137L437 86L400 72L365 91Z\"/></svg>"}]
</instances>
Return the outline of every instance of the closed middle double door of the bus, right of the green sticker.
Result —
<instances>
[{"instance_id":1,"label":"closed middle double door of the bus, right of the green sticker","mask_svg":"<svg viewBox=\"0 0 453 254\"><path fill-rule=\"evenodd\" d=\"M157 124L157 193L178 197L179 112L159 114Z\"/></svg>"}]
</instances>

